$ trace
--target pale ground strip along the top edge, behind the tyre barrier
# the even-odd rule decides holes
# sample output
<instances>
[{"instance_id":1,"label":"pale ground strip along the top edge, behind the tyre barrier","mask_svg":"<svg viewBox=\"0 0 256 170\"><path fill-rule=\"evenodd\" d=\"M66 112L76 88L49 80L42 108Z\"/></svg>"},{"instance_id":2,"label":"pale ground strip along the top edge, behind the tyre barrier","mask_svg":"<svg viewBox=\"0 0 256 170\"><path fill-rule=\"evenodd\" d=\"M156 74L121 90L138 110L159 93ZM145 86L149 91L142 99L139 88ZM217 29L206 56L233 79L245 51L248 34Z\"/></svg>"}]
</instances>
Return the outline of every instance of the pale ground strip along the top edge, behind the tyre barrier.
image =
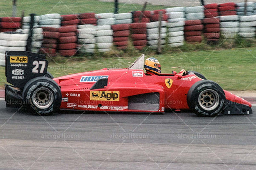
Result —
<instances>
[{"instance_id":1,"label":"pale ground strip along the top edge, behind the tyre barrier","mask_svg":"<svg viewBox=\"0 0 256 170\"><path fill-rule=\"evenodd\" d=\"M102 2L114 2L114 0L99 0ZM245 0L205 0L205 4L210 3L226 3L226 2L244 2ZM201 5L200 0L118 0L120 3L138 3L144 4L148 2L152 5L166 5L166 6L181 6L181 7L190 7L190 6L199 6ZM248 0L248 2L256 2L256 0Z\"/></svg>"}]
</instances>

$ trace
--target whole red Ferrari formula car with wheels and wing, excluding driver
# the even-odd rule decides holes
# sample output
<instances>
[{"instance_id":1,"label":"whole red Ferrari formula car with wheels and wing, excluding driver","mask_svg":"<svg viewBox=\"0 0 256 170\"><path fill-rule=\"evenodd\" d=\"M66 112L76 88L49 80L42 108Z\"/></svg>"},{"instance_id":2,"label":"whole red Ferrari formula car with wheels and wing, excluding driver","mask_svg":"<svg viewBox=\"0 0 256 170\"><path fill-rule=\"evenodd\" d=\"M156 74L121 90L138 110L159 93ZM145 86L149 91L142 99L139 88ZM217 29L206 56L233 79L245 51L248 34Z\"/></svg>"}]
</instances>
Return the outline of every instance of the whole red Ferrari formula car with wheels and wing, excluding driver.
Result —
<instances>
[{"instance_id":1,"label":"whole red Ferrari formula car with wheels and wing, excluding driver","mask_svg":"<svg viewBox=\"0 0 256 170\"><path fill-rule=\"evenodd\" d=\"M103 68L52 78L44 56L6 52L7 107L39 115L59 109L107 112L191 110L200 116L252 114L251 104L193 71L145 74L144 55L129 68Z\"/></svg>"}]
</instances>

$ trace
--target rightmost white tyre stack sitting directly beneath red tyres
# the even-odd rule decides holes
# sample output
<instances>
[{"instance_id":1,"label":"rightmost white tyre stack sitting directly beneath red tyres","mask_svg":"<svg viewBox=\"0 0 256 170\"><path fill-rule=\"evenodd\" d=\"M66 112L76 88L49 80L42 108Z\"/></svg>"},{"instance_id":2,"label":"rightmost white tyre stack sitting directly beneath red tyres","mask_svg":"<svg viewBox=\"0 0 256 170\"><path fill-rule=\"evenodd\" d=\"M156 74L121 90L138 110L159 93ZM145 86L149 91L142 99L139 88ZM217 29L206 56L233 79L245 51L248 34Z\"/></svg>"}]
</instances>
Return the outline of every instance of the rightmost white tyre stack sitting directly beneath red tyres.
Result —
<instances>
[{"instance_id":1,"label":"rightmost white tyre stack sitting directly beneath red tyres","mask_svg":"<svg viewBox=\"0 0 256 170\"><path fill-rule=\"evenodd\" d=\"M239 16L219 16L220 32L225 38L234 38L239 32Z\"/></svg>"}]
</instances>

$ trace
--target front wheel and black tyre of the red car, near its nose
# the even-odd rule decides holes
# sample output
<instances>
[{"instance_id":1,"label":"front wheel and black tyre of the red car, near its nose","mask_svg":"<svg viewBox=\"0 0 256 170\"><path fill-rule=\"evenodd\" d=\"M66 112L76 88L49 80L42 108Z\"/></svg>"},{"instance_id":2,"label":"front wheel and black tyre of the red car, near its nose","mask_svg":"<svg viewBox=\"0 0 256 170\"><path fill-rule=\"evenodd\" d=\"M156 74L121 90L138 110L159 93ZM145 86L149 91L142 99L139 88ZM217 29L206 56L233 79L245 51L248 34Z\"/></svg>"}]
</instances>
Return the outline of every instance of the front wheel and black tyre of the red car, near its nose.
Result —
<instances>
[{"instance_id":1,"label":"front wheel and black tyre of the red car, near its nose","mask_svg":"<svg viewBox=\"0 0 256 170\"><path fill-rule=\"evenodd\" d=\"M217 116L224 108L225 93L215 82L202 80L196 82L188 91L187 103L198 116Z\"/></svg>"}]
</instances>

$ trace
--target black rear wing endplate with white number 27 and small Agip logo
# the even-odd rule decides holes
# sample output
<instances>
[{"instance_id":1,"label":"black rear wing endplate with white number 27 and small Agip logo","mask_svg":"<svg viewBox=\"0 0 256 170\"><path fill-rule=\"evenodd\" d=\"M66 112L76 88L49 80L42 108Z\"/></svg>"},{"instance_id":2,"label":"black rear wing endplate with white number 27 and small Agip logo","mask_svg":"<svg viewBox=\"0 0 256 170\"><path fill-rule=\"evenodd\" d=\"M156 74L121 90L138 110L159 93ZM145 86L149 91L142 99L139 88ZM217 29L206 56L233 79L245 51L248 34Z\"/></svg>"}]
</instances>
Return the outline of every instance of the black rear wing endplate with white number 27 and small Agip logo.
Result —
<instances>
[{"instance_id":1,"label":"black rear wing endplate with white number 27 and small Agip logo","mask_svg":"<svg viewBox=\"0 0 256 170\"><path fill-rule=\"evenodd\" d=\"M23 89L25 84L35 77L44 76L48 61L44 55L28 51L5 52L5 76L7 82Z\"/></svg>"}]
</instances>

